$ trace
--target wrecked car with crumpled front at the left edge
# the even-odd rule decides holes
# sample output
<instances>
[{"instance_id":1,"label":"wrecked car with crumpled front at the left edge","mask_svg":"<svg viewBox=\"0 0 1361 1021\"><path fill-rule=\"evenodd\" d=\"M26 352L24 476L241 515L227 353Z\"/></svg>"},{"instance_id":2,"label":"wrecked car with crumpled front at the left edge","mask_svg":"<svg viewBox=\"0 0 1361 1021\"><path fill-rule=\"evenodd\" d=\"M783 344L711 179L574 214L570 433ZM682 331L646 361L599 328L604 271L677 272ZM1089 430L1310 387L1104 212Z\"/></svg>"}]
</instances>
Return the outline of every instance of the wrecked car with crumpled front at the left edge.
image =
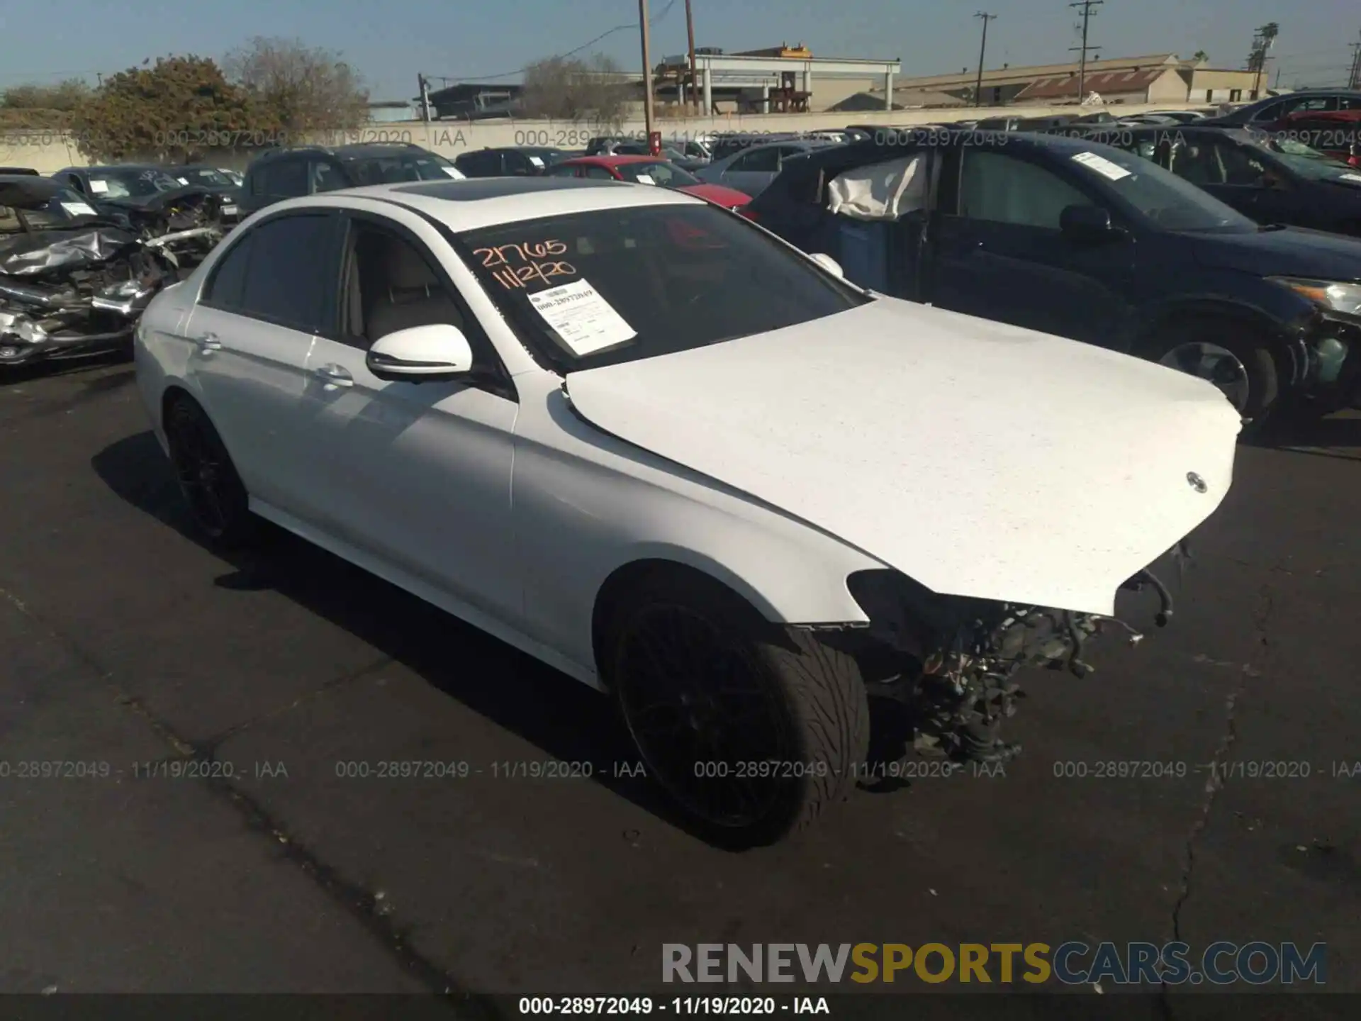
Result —
<instances>
[{"instance_id":1,"label":"wrecked car with crumpled front at the left edge","mask_svg":"<svg viewBox=\"0 0 1361 1021\"><path fill-rule=\"evenodd\" d=\"M0 177L0 373L131 346L137 316L176 271L158 241L60 182Z\"/></svg>"}]
</instances>

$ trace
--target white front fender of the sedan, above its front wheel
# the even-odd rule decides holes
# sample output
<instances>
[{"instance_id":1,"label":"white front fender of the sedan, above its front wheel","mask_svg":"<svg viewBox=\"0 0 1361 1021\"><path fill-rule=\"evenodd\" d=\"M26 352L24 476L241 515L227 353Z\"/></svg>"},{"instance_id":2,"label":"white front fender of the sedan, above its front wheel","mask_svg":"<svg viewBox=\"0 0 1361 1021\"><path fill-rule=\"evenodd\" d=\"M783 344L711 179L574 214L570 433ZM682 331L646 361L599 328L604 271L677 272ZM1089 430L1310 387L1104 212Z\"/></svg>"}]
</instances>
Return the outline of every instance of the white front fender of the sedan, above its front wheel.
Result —
<instances>
[{"instance_id":1,"label":"white front fender of the sedan, above its front wheel","mask_svg":"<svg viewBox=\"0 0 1361 1021\"><path fill-rule=\"evenodd\" d=\"M535 395L521 381L512 485L532 637L593 663L592 622L607 580L656 560L709 574L774 622L867 622L847 577L881 561L602 433L561 393Z\"/></svg>"}]
</instances>

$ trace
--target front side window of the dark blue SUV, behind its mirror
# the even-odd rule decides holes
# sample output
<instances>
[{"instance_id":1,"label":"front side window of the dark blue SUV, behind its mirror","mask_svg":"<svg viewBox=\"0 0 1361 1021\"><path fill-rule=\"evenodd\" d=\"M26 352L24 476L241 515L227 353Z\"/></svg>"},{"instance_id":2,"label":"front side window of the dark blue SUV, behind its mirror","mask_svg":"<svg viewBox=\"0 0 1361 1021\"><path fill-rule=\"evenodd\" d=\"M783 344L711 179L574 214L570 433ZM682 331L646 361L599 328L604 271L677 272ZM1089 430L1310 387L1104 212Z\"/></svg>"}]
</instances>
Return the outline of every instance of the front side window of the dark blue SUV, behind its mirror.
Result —
<instances>
[{"instance_id":1,"label":"front side window of the dark blue SUV, behind its mirror","mask_svg":"<svg viewBox=\"0 0 1361 1021\"><path fill-rule=\"evenodd\" d=\"M1068 206L1092 206L1075 185L1036 163L985 148L961 150L960 216L1059 230Z\"/></svg>"}]
</instances>

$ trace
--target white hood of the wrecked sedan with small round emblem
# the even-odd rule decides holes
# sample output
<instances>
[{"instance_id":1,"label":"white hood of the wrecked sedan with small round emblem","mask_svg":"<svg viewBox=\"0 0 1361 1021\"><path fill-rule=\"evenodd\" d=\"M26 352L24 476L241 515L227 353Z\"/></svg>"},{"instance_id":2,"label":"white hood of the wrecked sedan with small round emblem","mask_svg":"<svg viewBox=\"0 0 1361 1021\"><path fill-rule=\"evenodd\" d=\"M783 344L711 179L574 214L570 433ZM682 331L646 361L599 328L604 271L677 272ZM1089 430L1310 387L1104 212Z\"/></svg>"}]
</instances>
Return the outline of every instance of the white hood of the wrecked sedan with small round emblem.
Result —
<instances>
[{"instance_id":1,"label":"white hood of the wrecked sedan with small round emblem","mask_svg":"<svg viewBox=\"0 0 1361 1021\"><path fill-rule=\"evenodd\" d=\"M1105 615L1224 500L1241 426L1191 376L894 298L565 389L935 592Z\"/></svg>"}]
</instances>

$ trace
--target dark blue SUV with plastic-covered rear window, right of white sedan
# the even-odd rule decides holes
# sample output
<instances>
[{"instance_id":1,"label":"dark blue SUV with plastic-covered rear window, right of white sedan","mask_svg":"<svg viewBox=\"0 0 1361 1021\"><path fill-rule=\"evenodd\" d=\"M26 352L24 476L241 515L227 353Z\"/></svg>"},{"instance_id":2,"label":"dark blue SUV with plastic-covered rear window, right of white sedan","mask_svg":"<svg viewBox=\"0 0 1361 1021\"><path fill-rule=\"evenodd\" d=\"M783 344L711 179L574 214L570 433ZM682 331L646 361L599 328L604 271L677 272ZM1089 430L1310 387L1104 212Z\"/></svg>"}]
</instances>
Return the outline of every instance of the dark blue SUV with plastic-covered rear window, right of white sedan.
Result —
<instances>
[{"instance_id":1,"label":"dark blue SUV with plastic-covered rear window, right of white sedan","mask_svg":"<svg viewBox=\"0 0 1361 1021\"><path fill-rule=\"evenodd\" d=\"M906 131L787 162L742 214L882 293L1199 374L1253 429L1361 400L1361 242L1115 147Z\"/></svg>"}]
</instances>

